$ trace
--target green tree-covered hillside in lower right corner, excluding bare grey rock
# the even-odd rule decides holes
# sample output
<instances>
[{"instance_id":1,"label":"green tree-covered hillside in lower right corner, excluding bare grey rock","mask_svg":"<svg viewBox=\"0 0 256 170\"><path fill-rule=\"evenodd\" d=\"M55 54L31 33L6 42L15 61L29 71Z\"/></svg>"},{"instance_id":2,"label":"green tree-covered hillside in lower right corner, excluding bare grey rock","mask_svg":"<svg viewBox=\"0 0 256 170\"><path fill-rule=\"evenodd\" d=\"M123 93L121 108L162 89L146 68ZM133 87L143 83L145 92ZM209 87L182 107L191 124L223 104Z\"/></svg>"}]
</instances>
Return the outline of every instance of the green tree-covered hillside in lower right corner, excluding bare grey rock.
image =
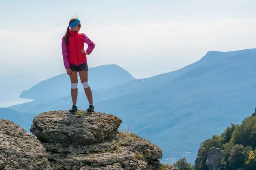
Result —
<instances>
[{"instance_id":1,"label":"green tree-covered hillside in lower right corner, excluding bare grey rock","mask_svg":"<svg viewBox=\"0 0 256 170\"><path fill-rule=\"evenodd\" d=\"M221 166L218 170L256 169L256 116L245 118L241 125L232 124L221 135L201 142L195 170L208 170L205 164L209 148L216 147L224 150Z\"/></svg>"}]
</instances>

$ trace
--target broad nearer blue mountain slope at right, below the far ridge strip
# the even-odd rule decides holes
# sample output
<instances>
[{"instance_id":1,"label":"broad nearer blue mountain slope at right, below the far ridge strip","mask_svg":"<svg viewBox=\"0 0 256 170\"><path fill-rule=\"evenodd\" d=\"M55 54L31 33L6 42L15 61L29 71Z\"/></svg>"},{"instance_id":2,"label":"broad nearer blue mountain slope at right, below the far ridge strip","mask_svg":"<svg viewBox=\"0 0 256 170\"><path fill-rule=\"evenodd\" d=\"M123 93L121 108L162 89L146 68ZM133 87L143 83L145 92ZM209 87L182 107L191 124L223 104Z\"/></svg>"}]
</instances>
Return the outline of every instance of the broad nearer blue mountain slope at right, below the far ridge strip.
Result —
<instances>
[{"instance_id":1,"label":"broad nearer blue mountain slope at right, below the far ridge strip","mask_svg":"<svg viewBox=\"0 0 256 170\"><path fill-rule=\"evenodd\" d=\"M239 123L256 105L256 54L236 53L188 71L171 82L96 103L163 148L164 158L191 152L203 139ZM116 107L110 107L114 103Z\"/></svg>"}]
</instances>

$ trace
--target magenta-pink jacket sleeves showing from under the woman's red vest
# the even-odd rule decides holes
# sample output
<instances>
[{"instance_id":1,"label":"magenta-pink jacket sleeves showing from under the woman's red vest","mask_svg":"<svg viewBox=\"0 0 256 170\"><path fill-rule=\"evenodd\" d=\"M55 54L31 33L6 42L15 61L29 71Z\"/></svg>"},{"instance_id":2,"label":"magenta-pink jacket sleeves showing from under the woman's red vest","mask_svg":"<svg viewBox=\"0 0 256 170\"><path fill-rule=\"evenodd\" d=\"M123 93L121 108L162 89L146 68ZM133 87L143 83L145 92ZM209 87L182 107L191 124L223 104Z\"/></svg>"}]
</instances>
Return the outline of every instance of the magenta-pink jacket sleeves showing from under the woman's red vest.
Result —
<instances>
[{"instance_id":1,"label":"magenta-pink jacket sleeves showing from under the woman's red vest","mask_svg":"<svg viewBox=\"0 0 256 170\"><path fill-rule=\"evenodd\" d=\"M86 49L86 52L88 54L91 54L93 49L95 48L95 44L84 33L82 33L82 34L83 34L84 42L88 45L88 48ZM70 68L70 62L69 62L68 57L67 57L68 51L67 51L67 45L65 44L64 36L62 37L61 48L62 48L62 56L63 56L64 67L66 69L68 69L68 68ZM83 64L83 63L80 63L80 64Z\"/></svg>"}]
</instances>

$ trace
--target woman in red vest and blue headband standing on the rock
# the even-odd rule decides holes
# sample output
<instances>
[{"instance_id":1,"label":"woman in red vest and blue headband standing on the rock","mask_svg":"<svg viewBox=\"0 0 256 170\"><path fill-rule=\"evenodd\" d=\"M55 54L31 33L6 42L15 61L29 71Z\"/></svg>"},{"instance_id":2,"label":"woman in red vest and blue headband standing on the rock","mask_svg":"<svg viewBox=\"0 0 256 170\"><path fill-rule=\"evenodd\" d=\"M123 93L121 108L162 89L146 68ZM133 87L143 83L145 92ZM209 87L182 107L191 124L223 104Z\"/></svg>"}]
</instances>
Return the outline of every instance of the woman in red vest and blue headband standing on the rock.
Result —
<instances>
[{"instance_id":1,"label":"woman in red vest and blue headband standing on the rock","mask_svg":"<svg viewBox=\"0 0 256 170\"><path fill-rule=\"evenodd\" d=\"M70 29L71 28L71 29ZM94 111L93 96L88 83L88 65L87 55L91 54L95 44L84 34L79 33L81 28L81 22L77 18L73 18L69 22L67 32L62 38L62 55L64 61L64 67L67 70L67 74L71 80L71 97L73 106L70 109L71 113L77 111L77 72L81 79L81 83L84 87L84 92L89 102L88 112ZM86 51L84 51L84 42L88 45Z\"/></svg>"}]
</instances>

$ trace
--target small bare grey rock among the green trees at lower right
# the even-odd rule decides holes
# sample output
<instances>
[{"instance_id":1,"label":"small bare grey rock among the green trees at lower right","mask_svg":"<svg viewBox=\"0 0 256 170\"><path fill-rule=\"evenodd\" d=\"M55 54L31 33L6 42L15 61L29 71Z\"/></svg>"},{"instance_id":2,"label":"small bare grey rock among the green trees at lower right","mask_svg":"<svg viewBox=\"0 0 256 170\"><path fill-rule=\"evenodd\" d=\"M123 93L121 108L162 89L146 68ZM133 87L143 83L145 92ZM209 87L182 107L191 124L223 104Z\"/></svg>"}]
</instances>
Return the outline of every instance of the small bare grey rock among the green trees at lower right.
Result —
<instances>
[{"instance_id":1,"label":"small bare grey rock among the green trees at lower right","mask_svg":"<svg viewBox=\"0 0 256 170\"><path fill-rule=\"evenodd\" d=\"M205 162L209 170L218 169L218 167L221 165L221 157L223 156L223 154L224 151L219 148L212 147L209 149L209 154Z\"/></svg>"}]
</instances>

